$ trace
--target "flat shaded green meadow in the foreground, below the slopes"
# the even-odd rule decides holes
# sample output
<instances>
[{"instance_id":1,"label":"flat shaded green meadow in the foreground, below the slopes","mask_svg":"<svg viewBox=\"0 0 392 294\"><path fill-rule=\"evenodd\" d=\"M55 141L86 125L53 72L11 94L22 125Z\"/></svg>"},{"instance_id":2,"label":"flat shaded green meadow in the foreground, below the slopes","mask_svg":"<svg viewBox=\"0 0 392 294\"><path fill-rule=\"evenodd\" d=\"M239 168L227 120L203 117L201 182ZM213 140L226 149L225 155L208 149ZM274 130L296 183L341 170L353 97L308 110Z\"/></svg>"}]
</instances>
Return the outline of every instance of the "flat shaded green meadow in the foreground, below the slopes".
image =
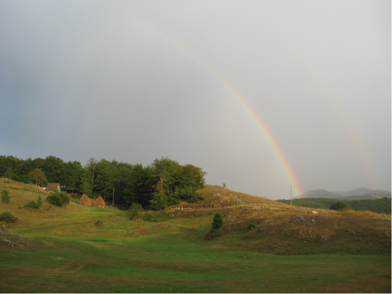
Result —
<instances>
[{"instance_id":1,"label":"flat shaded green meadow in the foreground, below the slopes","mask_svg":"<svg viewBox=\"0 0 392 294\"><path fill-rule=\"evenodd\" d=\"M276 256L178 234L48 240L0 255L3 293L387 293L391 257Z\"/></svg>"}]
</instances>

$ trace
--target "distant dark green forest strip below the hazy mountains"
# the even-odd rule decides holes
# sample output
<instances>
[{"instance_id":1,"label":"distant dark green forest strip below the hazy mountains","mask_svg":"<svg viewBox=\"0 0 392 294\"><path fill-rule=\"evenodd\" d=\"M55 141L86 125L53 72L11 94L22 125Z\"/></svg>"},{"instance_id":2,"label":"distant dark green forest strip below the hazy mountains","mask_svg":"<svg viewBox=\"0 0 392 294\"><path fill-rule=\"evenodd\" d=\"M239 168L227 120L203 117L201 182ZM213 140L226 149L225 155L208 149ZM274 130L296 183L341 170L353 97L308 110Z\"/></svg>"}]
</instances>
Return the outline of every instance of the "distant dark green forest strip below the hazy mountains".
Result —
<instances>
[{"instance_id":1,"label":"distant dark green forest strip below the hazy mountains","mask_svg":"<svg viewBox=\"0 0 392 294\"><path fill-rule=\"evenodd\" d=\"M290 204L290 200L279 199L277 201ZM377 213L391 214L391 198L348 200L335 198L299 198L293 199L293 205L330 209L336 203L343 203L347 208L357 211L372 211Z\"/></svg>"}]
</instances>

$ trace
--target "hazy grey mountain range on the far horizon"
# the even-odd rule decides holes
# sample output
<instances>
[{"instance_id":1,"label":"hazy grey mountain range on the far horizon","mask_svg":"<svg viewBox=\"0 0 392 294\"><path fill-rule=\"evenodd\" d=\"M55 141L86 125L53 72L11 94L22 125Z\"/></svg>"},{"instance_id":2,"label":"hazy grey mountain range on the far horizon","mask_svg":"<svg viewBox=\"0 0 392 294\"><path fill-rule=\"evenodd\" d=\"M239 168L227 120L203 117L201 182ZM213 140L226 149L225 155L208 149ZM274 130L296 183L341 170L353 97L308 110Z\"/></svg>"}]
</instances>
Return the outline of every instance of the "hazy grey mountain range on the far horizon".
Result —
<instances>
[{"instance_id":1,"label":"hazy grey mountain range on the far horizon","mask_svg":"<svg viewBox=\"0 0 392 294\"><path fill-rule=\"evenodd\" d=\"M329 192L326 190L310 190L302 195L301 198L344 198L344 199L378 199L378 198L391 198L390 191L384 190L371 190L368 188L357 188L348 192ZM299 197L296 197L299 198Z\"/></svg>"}]
</instances>

